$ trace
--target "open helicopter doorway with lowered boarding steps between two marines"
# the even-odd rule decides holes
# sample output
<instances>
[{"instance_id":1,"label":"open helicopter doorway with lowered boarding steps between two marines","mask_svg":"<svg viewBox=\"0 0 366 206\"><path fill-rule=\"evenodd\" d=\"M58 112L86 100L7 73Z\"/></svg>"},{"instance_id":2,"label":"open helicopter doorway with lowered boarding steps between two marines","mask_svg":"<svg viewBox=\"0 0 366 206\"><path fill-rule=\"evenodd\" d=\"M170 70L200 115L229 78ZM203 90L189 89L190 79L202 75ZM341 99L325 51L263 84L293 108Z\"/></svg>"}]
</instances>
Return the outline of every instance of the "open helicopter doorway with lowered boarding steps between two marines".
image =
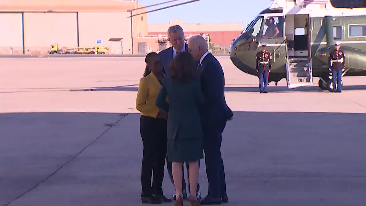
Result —
<instances>
[{"instance_id":1,"label":"open helicopter doorway with lowered boarding steps between two marines","mask_svg":"<svg viewBox=\"0 0 366 206\"><path fill-rule=\"evenodd\" d=\"M313 84L309 21L308 14L289 14L285 17L286 77L289 89Z\"/></svg>"}]
</instances>

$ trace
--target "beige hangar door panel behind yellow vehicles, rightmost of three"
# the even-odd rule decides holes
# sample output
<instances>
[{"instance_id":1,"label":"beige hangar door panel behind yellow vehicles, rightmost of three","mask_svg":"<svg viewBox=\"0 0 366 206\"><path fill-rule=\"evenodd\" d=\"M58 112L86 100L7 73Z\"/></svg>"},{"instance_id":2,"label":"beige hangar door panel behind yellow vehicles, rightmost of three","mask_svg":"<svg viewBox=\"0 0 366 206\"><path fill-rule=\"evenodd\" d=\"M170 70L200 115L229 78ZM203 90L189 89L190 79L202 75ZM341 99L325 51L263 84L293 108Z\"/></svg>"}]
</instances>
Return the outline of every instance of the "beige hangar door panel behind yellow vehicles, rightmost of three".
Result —
<instances>
[{"instance_id":1,"label":"beige hangar door panel behind yellow vehicles, rightmost of three","mask_svg":"<svg viewBox=\"0 0 366 206\"><path fill-rule=\"evenodd\" d=\"M79 12L80 47L100 45L113 51L110 38L123 38L123 54L131 51L131 20L130 12ZM97 40L101 40L97 44Z\"/></svg>"}]
</instances>

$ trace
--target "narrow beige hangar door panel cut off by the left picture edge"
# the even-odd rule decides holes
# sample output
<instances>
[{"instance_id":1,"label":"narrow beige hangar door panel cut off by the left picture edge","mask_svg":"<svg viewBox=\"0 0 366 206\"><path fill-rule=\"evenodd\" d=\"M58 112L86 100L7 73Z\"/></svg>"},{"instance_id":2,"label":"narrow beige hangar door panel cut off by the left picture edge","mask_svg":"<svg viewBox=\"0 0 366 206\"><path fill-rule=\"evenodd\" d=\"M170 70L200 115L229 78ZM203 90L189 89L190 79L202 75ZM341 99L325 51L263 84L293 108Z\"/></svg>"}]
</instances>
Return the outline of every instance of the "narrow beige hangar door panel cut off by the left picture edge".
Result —
<instances>
[{"instance_id":1,"label":"narrow beige hangar door panel cut off by the left picture edge","mask_svg":"<svg viewBox=\"0 0 366 206\"><path fill-rule=\"evenodd\" d=\"M0 54L23 54L22 14L0 14Z\"/></svg>"}]
</instances>

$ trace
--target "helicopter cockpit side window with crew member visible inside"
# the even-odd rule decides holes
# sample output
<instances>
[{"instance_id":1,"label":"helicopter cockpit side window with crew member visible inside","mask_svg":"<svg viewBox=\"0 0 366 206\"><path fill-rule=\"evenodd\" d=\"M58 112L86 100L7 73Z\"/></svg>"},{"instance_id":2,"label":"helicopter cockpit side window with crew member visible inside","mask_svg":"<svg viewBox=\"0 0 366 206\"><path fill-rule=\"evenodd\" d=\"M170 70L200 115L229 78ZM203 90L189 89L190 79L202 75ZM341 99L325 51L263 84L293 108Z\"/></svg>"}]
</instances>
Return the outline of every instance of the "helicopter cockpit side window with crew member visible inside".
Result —
<instances>
[{"instance_id":1,"label":"helicopter cockpit side window with crew member visible inside","mask_svg":"<svg viewBox=\"0 0 366 206\"><path fill-rule=\"evenodd\" d=\"M266 19L262 33L263 38L283 37L283 16L270 16Z\"/></svg>"}]
</instances>

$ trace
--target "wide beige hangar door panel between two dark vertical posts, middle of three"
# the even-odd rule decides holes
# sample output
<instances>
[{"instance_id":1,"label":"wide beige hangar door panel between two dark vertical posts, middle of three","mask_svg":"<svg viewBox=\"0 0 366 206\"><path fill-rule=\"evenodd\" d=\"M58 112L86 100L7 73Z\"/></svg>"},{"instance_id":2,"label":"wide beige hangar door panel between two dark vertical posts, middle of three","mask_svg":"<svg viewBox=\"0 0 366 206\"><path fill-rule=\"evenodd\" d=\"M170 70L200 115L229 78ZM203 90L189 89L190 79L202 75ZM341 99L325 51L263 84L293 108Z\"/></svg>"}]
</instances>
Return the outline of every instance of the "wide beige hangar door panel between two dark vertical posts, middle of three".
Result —
<instances>
[{"instance_id":1,"label":"wide beige hangar door panel between two dark vertical posts, middle of three","mask_svg":"<svg viewBox=\"0 0 366 206\"><path fill-rule=\"evenodd\" d=\"M25 54L46 54L55 43L77 47L76 13L24 13Z\"/></svg>"}]
</instances>

